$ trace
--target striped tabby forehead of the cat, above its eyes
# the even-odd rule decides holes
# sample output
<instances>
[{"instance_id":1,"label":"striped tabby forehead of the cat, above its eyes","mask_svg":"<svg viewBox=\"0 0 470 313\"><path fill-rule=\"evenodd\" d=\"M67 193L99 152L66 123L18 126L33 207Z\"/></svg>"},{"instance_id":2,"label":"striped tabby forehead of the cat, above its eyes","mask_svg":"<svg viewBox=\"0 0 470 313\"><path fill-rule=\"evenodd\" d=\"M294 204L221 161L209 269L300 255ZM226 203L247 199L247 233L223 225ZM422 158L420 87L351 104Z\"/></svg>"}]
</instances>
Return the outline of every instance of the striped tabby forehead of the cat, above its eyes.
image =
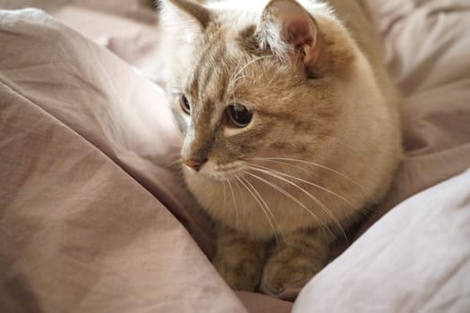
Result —
<instances>
[{"instance_id":1,"label":"striped tabby forehead of the cat, above its eyes","mask_svg":"<svg viewBox=\"0 0 470 313\"><path fill-rule=\"evenodd\" d=\"M255 27L248 23L226 31L214 24L194 42L184 92L195 111L204 106L206 114L218 114L232 103L252 109L285 109L285 101L278 98L290 97L284 94L290 94L298 80L288 64L279 63L273 55L253 53L247 39L252 38Z\"/></svg>"}]
</instances>

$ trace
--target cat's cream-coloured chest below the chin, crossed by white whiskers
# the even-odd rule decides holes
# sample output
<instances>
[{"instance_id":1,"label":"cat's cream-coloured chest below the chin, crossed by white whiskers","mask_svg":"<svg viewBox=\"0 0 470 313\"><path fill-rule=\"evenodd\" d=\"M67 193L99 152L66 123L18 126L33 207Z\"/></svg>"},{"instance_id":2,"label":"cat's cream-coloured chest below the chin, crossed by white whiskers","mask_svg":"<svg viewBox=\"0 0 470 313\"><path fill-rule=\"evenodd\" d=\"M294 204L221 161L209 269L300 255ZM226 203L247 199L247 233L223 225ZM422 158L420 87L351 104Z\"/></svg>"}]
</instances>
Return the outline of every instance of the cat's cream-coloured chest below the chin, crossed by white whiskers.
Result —
<instances>
[{"instance_id":1,"label":"cat's cream-coloured chest below the chin, crossed by white whiskers","mask_svg":"<svg viewBox=\"0 0 470 313\"><path fill-rule=\"evenodd\" d=\"M185 177L188 187L210 216L254 238L266 240L274 233L330 223L328 212L318 205L318 201L325 199L313 196L306 186L303 191L249 178L218 182L205 180L197 173ZM329 211L338 209L341 206L334 201L329 203Z\"/></svg>"}]
</instances>

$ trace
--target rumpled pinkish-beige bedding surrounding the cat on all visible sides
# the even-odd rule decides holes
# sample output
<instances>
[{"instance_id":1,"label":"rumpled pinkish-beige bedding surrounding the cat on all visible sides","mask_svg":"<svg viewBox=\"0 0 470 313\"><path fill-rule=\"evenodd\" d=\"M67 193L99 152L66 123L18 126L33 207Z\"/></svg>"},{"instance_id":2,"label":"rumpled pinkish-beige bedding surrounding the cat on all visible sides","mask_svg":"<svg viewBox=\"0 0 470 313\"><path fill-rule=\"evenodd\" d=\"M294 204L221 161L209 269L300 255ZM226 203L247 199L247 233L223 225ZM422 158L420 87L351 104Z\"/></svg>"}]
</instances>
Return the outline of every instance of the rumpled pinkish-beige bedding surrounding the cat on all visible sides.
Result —
<instances>
[{"instance_id":1,"label":"rumpled pinkish-beige bedding surrounding the cat on all visible sides","mask_svg":"<svg viewBox=\"0 0 470 313\"><path fill-rule=\"evenodd\" d=\"M370 4L406 154L329 265L275 298L209 262L148 2L0 0L0 310L469 312L470 4Z\"/></svg>"}]
</instances>

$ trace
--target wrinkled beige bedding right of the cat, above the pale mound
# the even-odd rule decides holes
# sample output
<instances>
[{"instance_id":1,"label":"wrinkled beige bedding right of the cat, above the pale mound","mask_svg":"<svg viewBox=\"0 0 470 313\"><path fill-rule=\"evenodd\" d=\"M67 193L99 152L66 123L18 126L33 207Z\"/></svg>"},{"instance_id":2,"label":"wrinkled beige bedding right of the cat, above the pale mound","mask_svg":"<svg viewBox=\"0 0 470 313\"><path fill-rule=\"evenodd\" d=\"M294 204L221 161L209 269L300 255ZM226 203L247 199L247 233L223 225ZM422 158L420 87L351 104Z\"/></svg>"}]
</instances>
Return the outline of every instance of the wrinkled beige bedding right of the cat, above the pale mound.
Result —
<instances>
[{"instance_id":1,"label":"wrinkled beige bedding right of the cat, above the pale mound","mask_svg":"<svg viewBox=\"0 0 470 313\"><path fill-rule=\"evenodd\" d=\"M374 218L470 166L470 3L369 1L403 93L406 155Z\"/></svg>"}]
</instances>

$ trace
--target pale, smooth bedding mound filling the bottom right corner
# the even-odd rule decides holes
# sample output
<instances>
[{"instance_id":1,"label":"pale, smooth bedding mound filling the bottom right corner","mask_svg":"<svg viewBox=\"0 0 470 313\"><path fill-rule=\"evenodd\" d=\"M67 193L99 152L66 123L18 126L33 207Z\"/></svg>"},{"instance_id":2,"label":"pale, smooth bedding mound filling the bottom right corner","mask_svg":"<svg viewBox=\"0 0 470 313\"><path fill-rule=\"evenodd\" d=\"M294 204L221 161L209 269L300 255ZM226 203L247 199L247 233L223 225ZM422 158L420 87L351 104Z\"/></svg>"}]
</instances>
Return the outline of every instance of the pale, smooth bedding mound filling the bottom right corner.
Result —
<instances>
[{"instance_id":1,"label":"pale, smooth bedding mound filling the bottom right corner","mask_svg":"<svg viewBox=\"0 0 470 313\"><path fill-rule=\"evenodd\" d=\"M470 170L394 208L307 284L301 312L468 312Z\"/></svg>"}]
</instances>

